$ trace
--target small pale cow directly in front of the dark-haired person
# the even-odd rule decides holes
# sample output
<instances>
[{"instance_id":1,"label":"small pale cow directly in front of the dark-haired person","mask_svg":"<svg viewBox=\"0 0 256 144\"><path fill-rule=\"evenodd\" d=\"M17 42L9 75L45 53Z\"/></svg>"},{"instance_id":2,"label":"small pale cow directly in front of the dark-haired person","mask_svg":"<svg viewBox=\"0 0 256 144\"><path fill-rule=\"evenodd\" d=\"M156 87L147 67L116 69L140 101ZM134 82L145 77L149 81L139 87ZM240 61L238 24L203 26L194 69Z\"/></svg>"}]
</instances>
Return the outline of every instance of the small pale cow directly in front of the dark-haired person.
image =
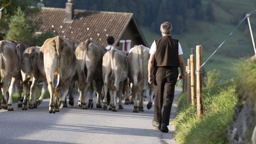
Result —
<instances>
[{"instance_id":1,"label":"small pale cow directly in front of the dark-haired person","mask_svg":"<svg viewBox=\"0 0 256 144\"><path fill-rule=\"evenodd\" d=\"M112 49L105 53L102 60L102 76L104 82L103 110L107 109L107 92L110 94L110 110L116 109L117 88L119 85L119 109L123 109L121 96L123 93L124 81L128 76L128 62L126 56L120 50Z\"/></svg>"}]
</instances>

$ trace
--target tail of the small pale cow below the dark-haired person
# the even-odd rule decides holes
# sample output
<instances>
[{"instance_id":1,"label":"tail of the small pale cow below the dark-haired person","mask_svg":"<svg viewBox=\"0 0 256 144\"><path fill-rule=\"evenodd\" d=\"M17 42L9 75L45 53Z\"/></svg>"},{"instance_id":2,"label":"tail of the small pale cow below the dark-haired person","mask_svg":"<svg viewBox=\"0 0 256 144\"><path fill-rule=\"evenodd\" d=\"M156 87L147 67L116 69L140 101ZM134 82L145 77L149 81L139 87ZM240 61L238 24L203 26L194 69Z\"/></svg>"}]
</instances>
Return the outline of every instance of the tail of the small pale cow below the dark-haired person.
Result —
<instances>
[{"instance_id":1,"label":"tail of the small pale cow below the dark-haired person","mask_svg":"<svg viewBox=\"0 0 256 144\"><path fill-rule=\"evenodd\" d=\"M115 91L117 90L117 87L114 86L114 80L115 80L115 68L114 68L114 53L115 53L115 49L112 49L109 51L109 57L110 57L110 61L111 61L111 69L112 69L112 72L111 72L111 76L108 77L108 88L111 90L111 91Z\"/></svg>"}]
</instances>

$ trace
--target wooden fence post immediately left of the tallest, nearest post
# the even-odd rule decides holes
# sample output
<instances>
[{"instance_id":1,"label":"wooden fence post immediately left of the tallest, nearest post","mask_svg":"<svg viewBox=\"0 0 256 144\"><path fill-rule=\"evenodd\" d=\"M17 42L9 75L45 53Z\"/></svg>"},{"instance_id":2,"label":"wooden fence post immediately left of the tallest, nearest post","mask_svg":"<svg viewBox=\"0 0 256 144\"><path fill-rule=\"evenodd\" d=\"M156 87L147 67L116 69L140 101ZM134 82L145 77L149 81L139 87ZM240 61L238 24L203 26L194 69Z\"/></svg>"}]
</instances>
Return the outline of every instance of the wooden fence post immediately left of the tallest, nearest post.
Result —
<instances>
[{"instance_id":1,"label":"wooden fence post immediately left of the tallest, nearest post","mask_svg":"<svg viewBox=\"0 0 256 144\"><path fill-rule=\"evenodd\" d=\"M196 77L195 77L195 55L190 55L190 76L191 76L191 102L196 102Z\"/></svg>"}]
</instances>

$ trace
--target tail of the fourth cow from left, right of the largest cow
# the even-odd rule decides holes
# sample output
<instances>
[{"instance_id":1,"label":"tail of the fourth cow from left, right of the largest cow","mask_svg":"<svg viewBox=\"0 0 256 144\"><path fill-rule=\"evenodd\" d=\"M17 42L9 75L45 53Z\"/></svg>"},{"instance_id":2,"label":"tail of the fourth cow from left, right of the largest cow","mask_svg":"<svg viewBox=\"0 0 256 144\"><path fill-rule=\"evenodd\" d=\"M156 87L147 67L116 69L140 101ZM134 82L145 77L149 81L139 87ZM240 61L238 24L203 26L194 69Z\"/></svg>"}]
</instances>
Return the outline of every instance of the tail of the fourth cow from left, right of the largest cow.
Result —
<instances>
[{"instance_id":1,"label":"tail of the fourth cow from left, right of the largest cow","mask_svg":"<svg viewBox=\"0 0 256 144\"><path fill-rule=\"evenodd\" d=\"M84 73L84 68L85 68L85 61L86 61L86 54L87 54L87 49L89 47L89 44L91 43L90 40L86 40L85 41L85 44L83 44L83 60L82 60L82 64L81 64L81 69L80 71L78 72L78 76L80 78L80 82L79 84L81 86L84 86L86 85L86 76L85 76L85 73Z\"/></svg>"}]
</instances>

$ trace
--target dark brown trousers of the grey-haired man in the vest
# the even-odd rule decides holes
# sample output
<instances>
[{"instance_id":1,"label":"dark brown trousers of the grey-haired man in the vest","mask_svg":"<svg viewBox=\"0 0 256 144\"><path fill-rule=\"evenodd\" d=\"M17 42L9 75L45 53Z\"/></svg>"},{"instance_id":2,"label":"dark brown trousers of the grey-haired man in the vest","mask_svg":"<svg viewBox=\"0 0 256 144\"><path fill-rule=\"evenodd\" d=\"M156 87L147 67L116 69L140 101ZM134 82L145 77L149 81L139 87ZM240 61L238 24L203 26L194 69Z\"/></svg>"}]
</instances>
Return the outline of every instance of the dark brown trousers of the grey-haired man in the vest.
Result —
<instances>
[{"instance_id":1,"label":"dark brown trousers of the grey-haired man in the vest","mask_svg":"<svg viewBox=\"0 0 256 144\"><path fill-rule=\"evenodd\" d=\"M154 68L154 120L169 125L174 98L174 88L179 74L177 67ZM162 107L164 105L163 115Z\"/></svg>"}]
</instances>

